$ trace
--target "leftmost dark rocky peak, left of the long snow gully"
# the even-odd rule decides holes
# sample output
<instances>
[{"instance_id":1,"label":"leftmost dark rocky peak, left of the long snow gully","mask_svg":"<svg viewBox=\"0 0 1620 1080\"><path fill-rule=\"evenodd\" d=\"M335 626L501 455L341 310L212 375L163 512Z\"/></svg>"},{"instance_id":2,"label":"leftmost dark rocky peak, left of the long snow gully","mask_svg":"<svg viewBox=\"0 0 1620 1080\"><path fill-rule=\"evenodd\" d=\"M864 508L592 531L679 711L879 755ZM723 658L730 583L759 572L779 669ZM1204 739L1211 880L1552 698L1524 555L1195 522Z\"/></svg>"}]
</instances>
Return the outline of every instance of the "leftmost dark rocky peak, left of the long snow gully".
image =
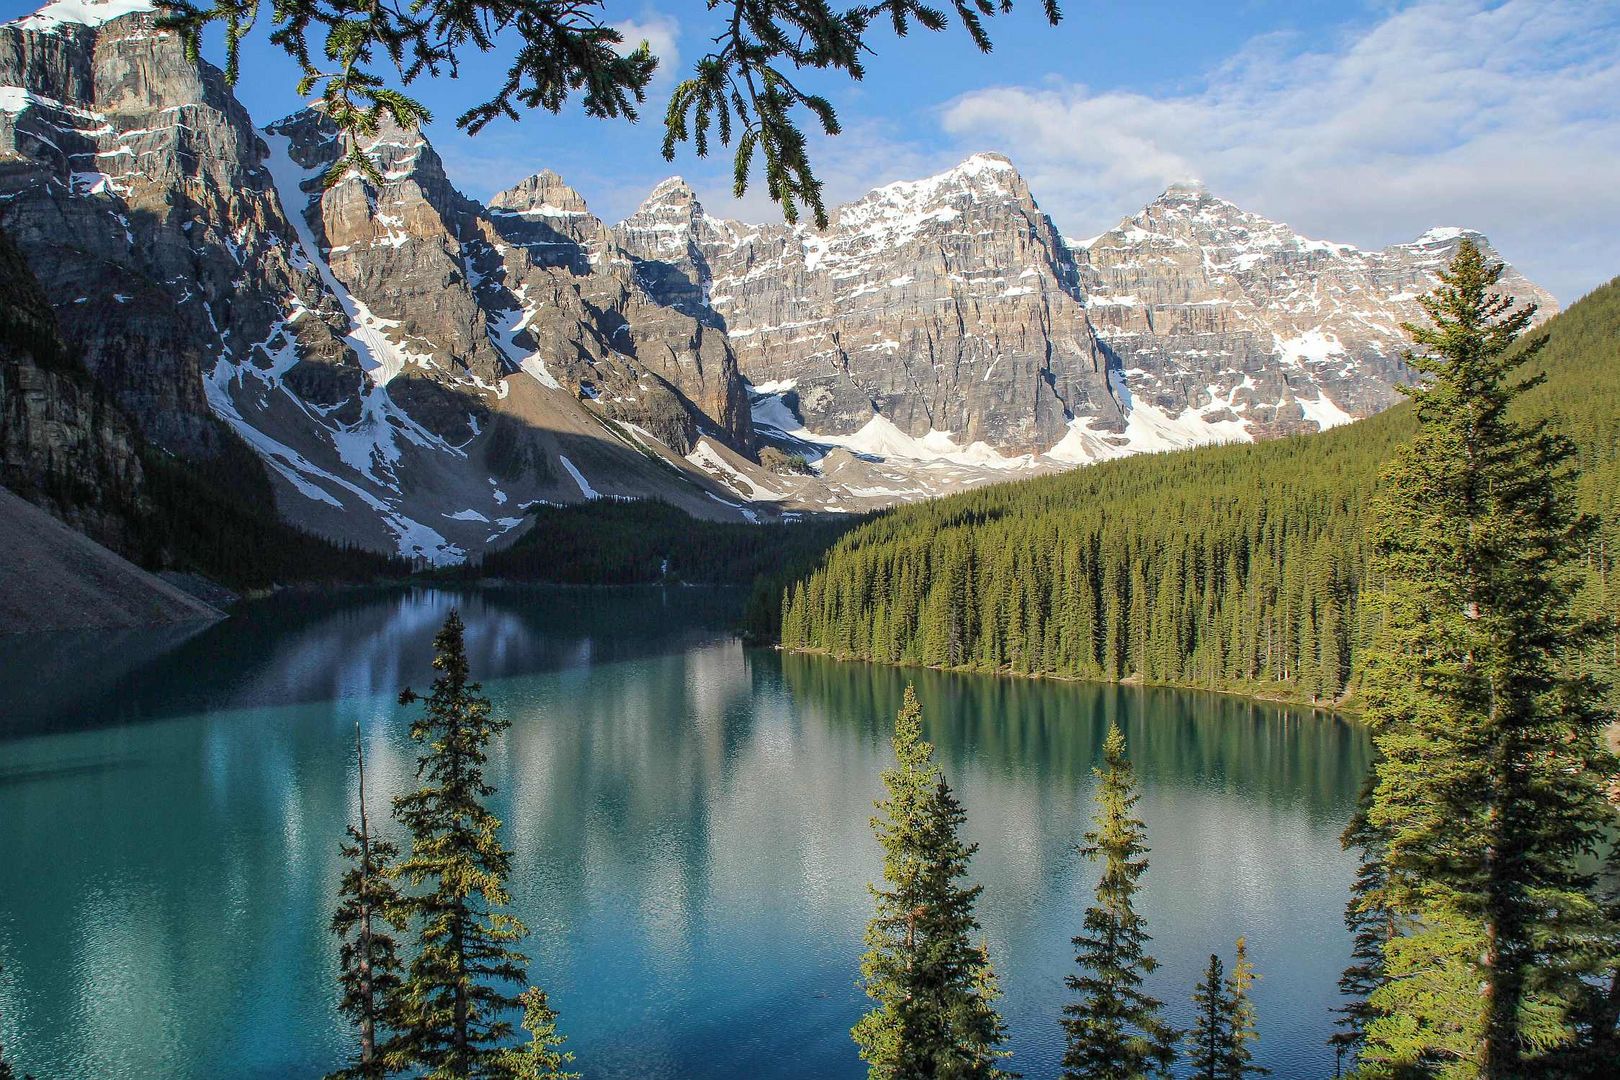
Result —
<instances>
[{"instance_id":1,"label":"leftmost dark rocky peak, left of the long snow gully","mask_svg":"<svg viewBox=\"0 0 1620 1080\"><path fill-rule=\"evenodd\" d=\"M207 453L202 372L275 316L240 285L293 274L253 123L141 6L63 0L0 26L0 223L115 400Z\"/></svg>"}]
</instances>

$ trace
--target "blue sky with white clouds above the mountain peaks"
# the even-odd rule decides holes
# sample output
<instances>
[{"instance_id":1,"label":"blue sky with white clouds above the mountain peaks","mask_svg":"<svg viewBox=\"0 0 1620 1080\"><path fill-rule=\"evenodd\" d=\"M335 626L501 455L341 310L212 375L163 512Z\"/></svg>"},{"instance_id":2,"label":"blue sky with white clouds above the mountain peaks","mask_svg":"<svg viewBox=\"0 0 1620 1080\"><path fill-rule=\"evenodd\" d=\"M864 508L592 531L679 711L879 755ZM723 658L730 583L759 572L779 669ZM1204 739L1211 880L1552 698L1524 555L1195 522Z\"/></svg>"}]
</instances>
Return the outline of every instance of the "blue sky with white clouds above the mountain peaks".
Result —
<instances>
[{"instance_id":1,"label":"blue sky with white clouds above the mountain peaks","mask_svg":"<svg viewBox=\"0 0 1620 1080\"><path fill-rule=\"evenodd\" d=\"M32 6L0 0L0 16ZM499 53L475 57L462 79L416 86L452 180L486 198L549 167L617 220L679 172L714 214L771 217L760 193L731 198L723 154L659 154L667 87L718 15L701 0L604 10L664 60L643 120L535 113L468 138L454 118L501 70ZM880 32L865 83L815 83L846 130L815 141L829 201L993 149L1074 236L1200 178L1306 235L1369 248L1479 228L1565 303L1620 274L1617 0L1071 0L1064 15L1053 29L1019 0L991 21L988 57L956 28ZM290 63L262 37L237 91L261 123L298 107Z\"/></svg>"}]
</instances>

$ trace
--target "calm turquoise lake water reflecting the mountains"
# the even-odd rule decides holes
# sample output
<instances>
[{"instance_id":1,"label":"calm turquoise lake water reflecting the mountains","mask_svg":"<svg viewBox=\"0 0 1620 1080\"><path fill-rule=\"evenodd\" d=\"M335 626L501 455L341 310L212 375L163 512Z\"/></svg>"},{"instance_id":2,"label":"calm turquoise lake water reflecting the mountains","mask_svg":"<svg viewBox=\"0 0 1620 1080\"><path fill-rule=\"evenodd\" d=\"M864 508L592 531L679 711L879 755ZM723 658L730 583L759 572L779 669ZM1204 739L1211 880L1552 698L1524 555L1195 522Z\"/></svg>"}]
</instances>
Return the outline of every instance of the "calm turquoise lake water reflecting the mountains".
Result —
<instances>
[{"instance_id":1,"label":"calm turquoise lake water reflecting the mountains","mask_svg":"<svg viewBox=\"0 0 1620 1080\"><path fill-rule=\"evenodd\" d=\"M531 981L591 1080L855 1078L868 829L915 680L980 848L980 920L1025 1077L1055 1077L1074 853L1116 721L1142 780L1140 908L1171 1018L1247 934L1260 1062L1330 1077L1354 724L1215 695L745 649L735 594L277 599L190 631L0 638L0 1043L40 1080L319 1077L348 1033L327 933L355 814L411 784L410 712L452 606L512 729L496 811ZM19 1069L19 1074L21 1074Z\"/></svg>"}]
</instances>

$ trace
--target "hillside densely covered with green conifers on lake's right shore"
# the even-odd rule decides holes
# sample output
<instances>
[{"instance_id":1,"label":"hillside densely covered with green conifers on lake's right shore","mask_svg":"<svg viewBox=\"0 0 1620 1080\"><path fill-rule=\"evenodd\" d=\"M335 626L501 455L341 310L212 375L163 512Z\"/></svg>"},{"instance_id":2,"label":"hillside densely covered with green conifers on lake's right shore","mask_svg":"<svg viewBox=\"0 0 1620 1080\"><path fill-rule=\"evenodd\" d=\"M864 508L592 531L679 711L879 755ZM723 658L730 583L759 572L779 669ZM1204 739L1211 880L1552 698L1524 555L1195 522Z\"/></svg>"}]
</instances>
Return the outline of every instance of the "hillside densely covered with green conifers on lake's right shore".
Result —
<instances>
[{"instance_id":1,"label":"hillside densely covered with green conifers on lake's right shore","mask_svg":"<svg viewBox=\"0 0 1620 1080\"><path fill-rule=\"evenodd\" d=\"M1620 610L1620 280L1536 330L1526 398L1602 518L1583 602ZM881 515L784 597L839 657L1338 701L1367 640L1366 504L1409 406L1320 436L1140 457ZM1602 657L1614 664L1615 656Z\"/></svg>"}]
</instances>

